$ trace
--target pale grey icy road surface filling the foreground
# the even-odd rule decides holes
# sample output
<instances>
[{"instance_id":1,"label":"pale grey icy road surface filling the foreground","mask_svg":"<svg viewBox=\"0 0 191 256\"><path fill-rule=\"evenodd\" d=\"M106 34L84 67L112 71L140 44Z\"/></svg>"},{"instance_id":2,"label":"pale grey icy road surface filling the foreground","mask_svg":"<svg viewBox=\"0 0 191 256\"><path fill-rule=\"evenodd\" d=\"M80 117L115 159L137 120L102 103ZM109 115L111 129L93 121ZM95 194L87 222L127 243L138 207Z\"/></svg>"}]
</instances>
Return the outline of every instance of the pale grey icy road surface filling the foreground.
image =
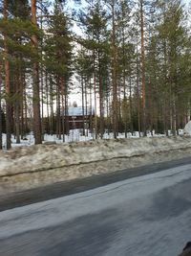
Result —
<instances>
[{"instance_id":1,"label":"pale grey icy road surface filling the foreground","mask_svg":"<svg viewBox=\"0 0 191 256\"><path fill-rule=\"evenodd\" d=\"M191 164L0 212L1 256L175 256L191 240Z\"/></svg>"}]
</instances>

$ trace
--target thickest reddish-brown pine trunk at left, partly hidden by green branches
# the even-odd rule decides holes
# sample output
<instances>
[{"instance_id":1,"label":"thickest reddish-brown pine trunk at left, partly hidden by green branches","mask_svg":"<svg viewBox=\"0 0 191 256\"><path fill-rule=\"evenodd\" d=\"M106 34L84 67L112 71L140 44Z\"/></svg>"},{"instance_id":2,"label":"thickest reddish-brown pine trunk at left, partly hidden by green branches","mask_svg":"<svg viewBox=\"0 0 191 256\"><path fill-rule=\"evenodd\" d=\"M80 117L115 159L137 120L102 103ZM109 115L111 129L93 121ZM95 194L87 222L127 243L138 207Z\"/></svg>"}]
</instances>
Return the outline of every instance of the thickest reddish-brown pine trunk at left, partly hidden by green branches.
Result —
<instances>
[{"instance_id":1,"label":"thickest reddish-brown pine trunk at left, partly hidden by green branches","mask_svg":"<svg viewBox=\"0 0 191 256\"><path fill-rule=\"evenodd\" d=\"M31 0L32 24L37 27L36 20L36 0ZM38 39L36 35L32 35L32 46L37 51ZM39 93L39 67L35 61L32 66L32 88L33 88L33 130L35 144L42 144L42 131L40 120L40 93Z\"/></svg>"}]
</instances>

